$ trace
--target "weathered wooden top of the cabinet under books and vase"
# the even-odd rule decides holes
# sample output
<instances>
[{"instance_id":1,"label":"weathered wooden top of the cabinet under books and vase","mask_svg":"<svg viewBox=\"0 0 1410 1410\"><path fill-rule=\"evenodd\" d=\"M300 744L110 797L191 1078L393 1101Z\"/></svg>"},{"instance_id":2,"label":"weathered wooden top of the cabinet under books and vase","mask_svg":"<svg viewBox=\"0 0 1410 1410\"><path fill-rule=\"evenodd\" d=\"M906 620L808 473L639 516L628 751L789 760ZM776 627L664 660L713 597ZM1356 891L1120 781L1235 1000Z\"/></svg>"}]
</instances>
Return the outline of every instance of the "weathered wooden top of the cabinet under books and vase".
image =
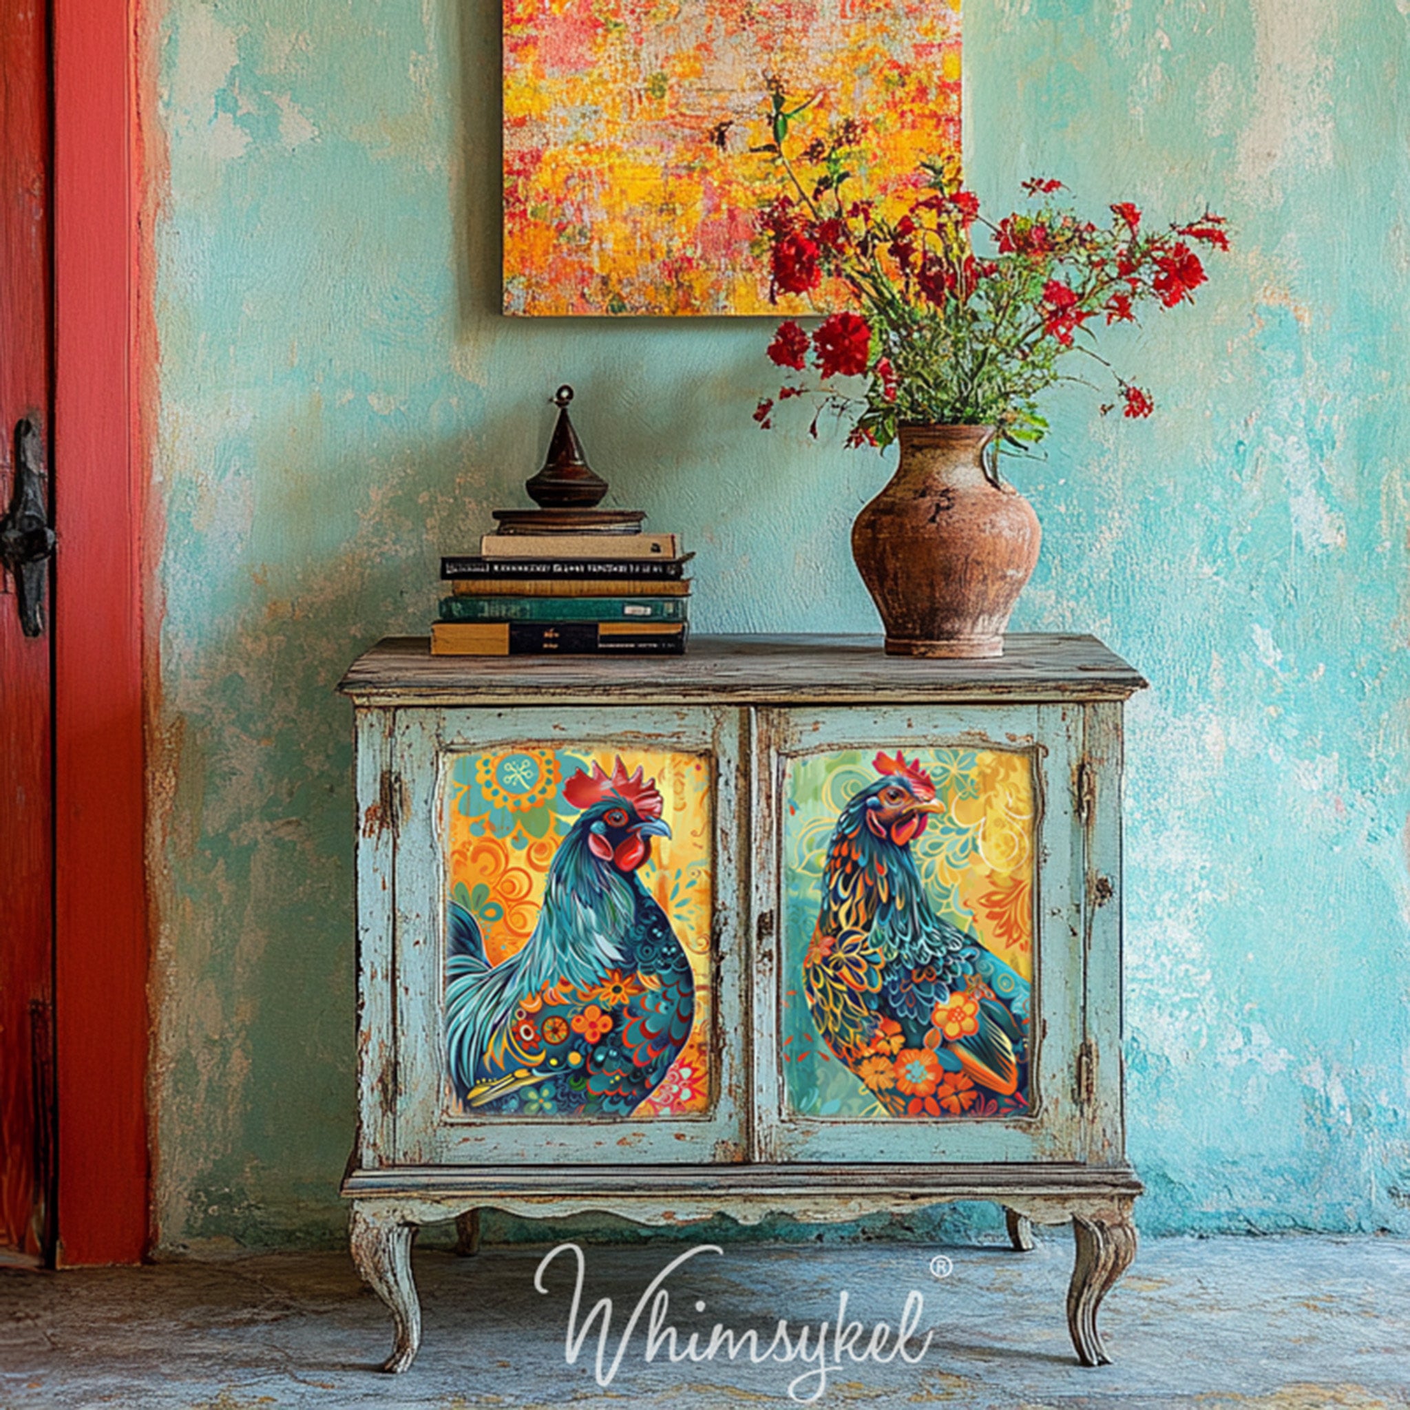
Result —
<instances>
[{"instance_id":1,"label":"weathered wooden top of the cabinet under books and vase","mask_svg":"<svg viewBox=\"0 0 1410 1410\"><path fill-rule=\"evenodd\" d=\"M338 689L360 705L1112 701L1146 681L1094 636L1014 634L984 661L887 656L880 636L692 636L685 656L431 656L392 636Z\"/></svg>"}]
</instances>

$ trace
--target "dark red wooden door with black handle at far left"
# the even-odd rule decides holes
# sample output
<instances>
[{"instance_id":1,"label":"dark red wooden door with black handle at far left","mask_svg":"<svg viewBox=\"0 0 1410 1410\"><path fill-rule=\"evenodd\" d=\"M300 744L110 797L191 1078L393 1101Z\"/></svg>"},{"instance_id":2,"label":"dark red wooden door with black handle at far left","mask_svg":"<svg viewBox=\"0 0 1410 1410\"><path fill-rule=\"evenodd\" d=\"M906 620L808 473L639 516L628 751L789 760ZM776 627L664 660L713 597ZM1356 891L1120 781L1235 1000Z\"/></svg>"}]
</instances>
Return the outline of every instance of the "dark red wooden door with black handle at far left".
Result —
<instances>
[{"instance_id":1,"label":"dark red wooden door with black handle at far left","mask_svg":"<svg viewBox=\"0 0 1410 1410\"><path fill-rule=\"evenodd\" d=\"M14 496L16 426L28 420L31 446L42 446L52 405L42 0L0 7L0 54L4 515ZM23 630L17 588L0 567L0 1262L37 1263L52 1262L55 1227L52 656L47 630Z\"/></svg>"}]
</instances>

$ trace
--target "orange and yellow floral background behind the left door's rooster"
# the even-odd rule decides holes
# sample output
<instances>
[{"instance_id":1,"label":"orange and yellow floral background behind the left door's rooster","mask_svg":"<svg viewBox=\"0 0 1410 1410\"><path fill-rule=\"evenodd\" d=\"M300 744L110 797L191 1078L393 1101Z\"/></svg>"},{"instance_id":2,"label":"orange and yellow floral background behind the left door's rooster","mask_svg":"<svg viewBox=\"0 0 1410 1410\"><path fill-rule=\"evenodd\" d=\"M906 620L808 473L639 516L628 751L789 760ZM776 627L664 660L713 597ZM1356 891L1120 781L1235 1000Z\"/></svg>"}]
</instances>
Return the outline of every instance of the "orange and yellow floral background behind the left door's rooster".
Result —
<instances>
[{"instance_id":1,"label":"orange and yellow floral background behind the left door's rooster","mask_svg":"<svg viewBox=\"0 0 1410 1410\"><path fill-rule=\"evenodd\" d=\"M492 964L519 950L539 918L553 854L578 818L578 809L563 797L564 781L580 768L591 771L594 764L612 773L619 757L627 773L642 767L660 790L671 836L653 839L651 857L640 876L695 971L691 1036L636 1115L698 1115L709 1110L713 1081L713 823L705 754L539 744L458 754L444 799L448 900L479 922Z\"/></svg>"}]
</instances>

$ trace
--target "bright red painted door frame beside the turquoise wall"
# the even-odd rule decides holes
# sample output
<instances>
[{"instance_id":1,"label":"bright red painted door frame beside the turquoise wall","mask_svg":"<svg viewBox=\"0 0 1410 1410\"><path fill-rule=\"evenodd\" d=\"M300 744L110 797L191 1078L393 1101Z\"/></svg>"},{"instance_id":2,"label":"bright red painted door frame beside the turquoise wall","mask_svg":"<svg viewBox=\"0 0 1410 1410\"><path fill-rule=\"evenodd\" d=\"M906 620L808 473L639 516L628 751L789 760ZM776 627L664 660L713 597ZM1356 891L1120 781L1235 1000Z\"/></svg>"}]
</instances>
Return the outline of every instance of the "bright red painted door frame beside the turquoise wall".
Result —
<instances>
[{"instance_id":1,"label":"bright red painted door frame beside the turquoise wall","mask_svg":"<svg viewBox=\"0 0 1410 1410\"><path fill-rule=\"evenodd\" d=\"M51 0L58 1262L148 1248L137 0Z\"/></svg>"}]
</instances>

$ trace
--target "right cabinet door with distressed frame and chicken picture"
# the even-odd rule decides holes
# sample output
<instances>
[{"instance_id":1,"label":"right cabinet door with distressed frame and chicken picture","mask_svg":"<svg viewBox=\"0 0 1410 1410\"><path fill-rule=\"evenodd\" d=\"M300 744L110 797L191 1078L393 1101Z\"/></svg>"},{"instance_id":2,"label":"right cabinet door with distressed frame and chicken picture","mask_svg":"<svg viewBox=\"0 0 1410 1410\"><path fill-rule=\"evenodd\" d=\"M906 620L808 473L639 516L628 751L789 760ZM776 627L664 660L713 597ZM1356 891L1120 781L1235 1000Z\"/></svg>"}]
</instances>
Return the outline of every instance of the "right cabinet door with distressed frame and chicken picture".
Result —
<instances>
[{"instance_id":1,"label":"right cabinet door with distressed frame and chicken picture","mask_svg":"<svg viewBox=\"0 0 1410 1410\"><path fill-rule=\"evenodd\" d=\"M759 719L766 1159L1079 1159L1079 708Z\"/></svg>"}]
</instances>

